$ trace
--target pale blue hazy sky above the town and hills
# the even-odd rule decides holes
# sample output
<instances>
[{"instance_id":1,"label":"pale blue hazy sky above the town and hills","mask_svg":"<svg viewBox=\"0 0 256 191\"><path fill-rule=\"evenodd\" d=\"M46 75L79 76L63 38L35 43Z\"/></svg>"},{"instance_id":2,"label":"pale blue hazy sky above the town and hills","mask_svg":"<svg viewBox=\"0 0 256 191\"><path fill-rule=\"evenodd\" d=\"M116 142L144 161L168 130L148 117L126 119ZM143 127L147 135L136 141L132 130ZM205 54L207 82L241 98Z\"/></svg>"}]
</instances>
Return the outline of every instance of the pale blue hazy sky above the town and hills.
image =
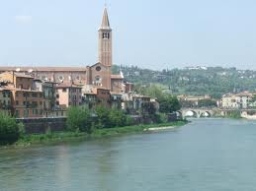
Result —
<instances>
[{"instance_id":1,"label":"pale blue hazy sky above the town and hills","mask_svg":"<svg viewBox=\"0 0 256 191\"><path fill-rule=\"evenodd\" d=\"M0 65L93 65L105 3L114 64L256 70L255 0L0 0Z\"/></svg>"}]
</instances>

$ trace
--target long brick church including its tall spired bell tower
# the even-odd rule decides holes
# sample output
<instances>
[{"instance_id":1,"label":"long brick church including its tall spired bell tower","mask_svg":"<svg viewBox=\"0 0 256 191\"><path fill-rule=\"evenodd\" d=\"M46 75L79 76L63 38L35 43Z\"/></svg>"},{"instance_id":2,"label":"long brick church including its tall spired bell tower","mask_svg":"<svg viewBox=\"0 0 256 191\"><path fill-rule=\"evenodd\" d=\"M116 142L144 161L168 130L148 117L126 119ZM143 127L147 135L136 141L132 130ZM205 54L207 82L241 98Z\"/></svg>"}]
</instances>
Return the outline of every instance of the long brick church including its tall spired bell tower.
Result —
<instances>
[{"instance_id":1,"label":"long brick church including its tall spired bell tower","mask_svg":"<svg viewBox=\"0 0 256 191\"><path fill-rule=\"evenodd\" d=\"M19 71L31 73L35 78L59 84L74 84L85 88L106 89L113 93L122 93L124 76L112 75L113 64L112 29L108 10L104 9L101 27L98 31L99 60L87 67L0 67L0 72Z\"/></svg>"}]
</instances>

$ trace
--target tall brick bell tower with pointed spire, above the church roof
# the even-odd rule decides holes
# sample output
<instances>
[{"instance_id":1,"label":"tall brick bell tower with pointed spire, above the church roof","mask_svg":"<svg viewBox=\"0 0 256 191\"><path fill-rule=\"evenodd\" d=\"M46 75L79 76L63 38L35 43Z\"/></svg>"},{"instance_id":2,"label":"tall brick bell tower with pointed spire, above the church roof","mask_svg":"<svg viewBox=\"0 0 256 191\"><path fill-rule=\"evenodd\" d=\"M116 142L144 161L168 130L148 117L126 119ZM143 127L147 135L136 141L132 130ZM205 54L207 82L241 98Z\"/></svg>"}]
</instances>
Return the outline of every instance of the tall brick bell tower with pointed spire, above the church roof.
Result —
<instances>
[{"instance_id":1,"label":"tall brick bell tower with pointed spire, above the church roof","mask_svg":"<svg viewBox=\"0 0 256 191\"><path fill-rule=\"evenodd\" d=\"M104 66L112 66L112 29L106 7L99 29L99 62Z\"/></svg>"}]
</instances>

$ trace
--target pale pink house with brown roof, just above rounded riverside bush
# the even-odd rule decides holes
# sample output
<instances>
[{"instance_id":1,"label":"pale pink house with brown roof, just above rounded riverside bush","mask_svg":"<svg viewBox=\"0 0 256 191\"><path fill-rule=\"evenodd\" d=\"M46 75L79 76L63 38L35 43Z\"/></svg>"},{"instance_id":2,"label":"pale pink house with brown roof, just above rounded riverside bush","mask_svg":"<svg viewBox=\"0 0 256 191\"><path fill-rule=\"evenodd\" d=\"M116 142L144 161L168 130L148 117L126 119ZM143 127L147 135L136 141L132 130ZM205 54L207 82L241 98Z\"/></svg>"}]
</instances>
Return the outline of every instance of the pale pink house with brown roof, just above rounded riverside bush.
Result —
<instances>
[{"instance_id":1,"label":"pale pink house with brown roof, just above rounded riverside bush","mask_svg":"<svg viewBox=\"0 0 256 191\"><path fill-rule=\"evenodd\" d=\"M79 106L82 103L82 88L73 84L60 84L56 86L56 106L67 108Z\"/></svg>"}]
</instances>

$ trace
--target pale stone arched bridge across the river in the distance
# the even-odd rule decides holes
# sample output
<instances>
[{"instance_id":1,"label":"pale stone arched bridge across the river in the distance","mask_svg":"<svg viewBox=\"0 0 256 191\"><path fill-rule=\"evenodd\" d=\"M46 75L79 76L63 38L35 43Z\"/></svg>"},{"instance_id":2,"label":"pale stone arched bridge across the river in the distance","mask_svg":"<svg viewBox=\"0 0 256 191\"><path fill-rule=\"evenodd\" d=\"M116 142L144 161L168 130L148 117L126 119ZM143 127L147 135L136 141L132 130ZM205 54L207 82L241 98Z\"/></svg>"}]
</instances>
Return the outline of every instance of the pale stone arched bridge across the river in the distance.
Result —
<instances>
[{"instance_id":1,"label":"pale stone arched bridge across the river in the distance","mask_svg":"<svg viewBox=\"0 0 256 191\"><path fill-rule=\"evenodd\" d=\"M216 108L182 108L177 111L178 116L184 117L213 117L215 114Z\"/></svg>"}]
</instances>

